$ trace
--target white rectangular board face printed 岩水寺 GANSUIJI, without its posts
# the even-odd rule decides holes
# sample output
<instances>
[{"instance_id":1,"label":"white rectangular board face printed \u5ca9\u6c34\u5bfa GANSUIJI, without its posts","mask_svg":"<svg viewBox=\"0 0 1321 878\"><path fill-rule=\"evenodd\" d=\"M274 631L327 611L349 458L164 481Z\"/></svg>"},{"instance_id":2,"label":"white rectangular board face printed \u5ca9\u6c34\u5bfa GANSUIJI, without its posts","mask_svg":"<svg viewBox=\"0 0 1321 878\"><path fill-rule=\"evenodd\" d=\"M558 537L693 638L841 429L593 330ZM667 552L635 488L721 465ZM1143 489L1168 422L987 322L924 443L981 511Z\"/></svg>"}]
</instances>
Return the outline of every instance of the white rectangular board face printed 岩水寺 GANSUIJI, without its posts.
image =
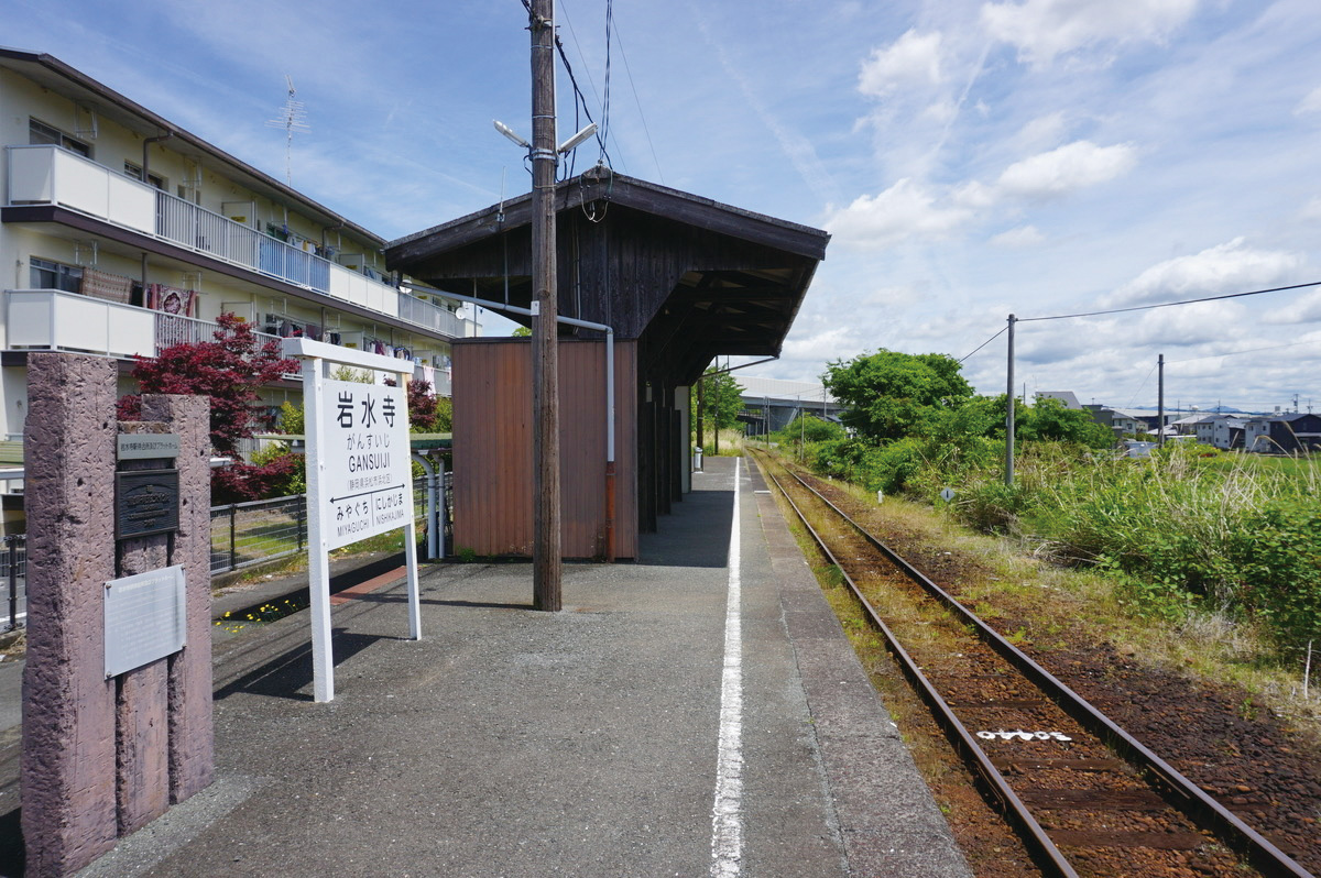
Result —
<instances>
[{"instance_id":1,"label":"white rectangular board face printed \u5ca9\u6c34\u5bfa GANSUIJI, without its posts","mask_svg":"<svg viewBox=\"0 0 1321 878\"><path fill-rule=\"evenodd\" d=\"M403 388L325 382L321 527L328 549L412 520L408 403Z\"/></svg>"}]
</instances>

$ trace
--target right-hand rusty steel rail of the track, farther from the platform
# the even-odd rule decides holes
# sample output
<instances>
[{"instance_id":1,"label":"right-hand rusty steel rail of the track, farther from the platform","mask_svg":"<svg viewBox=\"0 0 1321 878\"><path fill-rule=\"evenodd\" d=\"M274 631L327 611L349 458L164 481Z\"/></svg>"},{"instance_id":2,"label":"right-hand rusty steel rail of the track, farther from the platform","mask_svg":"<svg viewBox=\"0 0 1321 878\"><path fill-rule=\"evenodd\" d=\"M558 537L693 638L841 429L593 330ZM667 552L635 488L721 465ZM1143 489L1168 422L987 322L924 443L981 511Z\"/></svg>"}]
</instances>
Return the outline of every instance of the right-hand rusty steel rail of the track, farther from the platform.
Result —
<instances>
[{"instance_id":1,"label":"right-hand rusty steel rail of the track, farther from the platform","mask_svg":"<svg viewBox=\"0 0 1321 878\"><path fill-rule=\"evenodd\" d=\"M820 491L804 482L798 474L785 470L804 489L815 494L836 515L843 518L863 539L871 543L877 551L888 557L896 566L904 570L905 576L921 585L931 597L955 613L963 622L976 630L978 635L995 650L1003 659L1018 668L1024 676L1036 683L1052 701L1065 713L1073 717L1085 729L1104 741L1112 750L1127 759L1141 771L1147 771L1157 778L1166 790L1174 795L1176 801L1170 801L1176 808L1188 815L1194 823L1217 834L1232 849L1246 856L1256 869L1271 878L1316 878L1297 861L1271 844L1259 832L1248 827L1236 815L1229 811L1219 801L1209 796L1201 787L1189 780L1177 768L1166 763L1140 741L1124 731L1110 717L1094 708L1077 692L1070 689L1063 681L1037 664L1025 652L1009 643L1000 634L978 618L972 611L959 603L950 593L938 586L915 566L900 557L893 549L872 536L865 528L851 519L835 503L822 495ZM778 486L778 481L777 481ZM783 489L781 487L783 491ZM787 498L787 494L785 495ZM797 511L797 507L795 507Z\"/></svg>"}]
</instances>

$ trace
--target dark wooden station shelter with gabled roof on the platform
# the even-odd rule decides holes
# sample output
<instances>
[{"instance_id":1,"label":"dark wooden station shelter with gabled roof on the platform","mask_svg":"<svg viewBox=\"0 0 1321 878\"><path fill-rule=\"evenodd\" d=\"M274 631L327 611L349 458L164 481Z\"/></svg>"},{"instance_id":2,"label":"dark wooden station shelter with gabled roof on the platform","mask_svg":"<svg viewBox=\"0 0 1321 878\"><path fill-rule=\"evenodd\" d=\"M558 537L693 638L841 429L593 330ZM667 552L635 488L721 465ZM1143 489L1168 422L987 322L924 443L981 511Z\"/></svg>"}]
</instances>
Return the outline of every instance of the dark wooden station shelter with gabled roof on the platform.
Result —
<instances>
[{"instance_id":1,"label":"dark wooden station shelter with gabled roof on the platform","mask_svg":"<svg viewBox=\"0 0 1321 878\"><path fill-rule=\"evenodd\" d=\"M531 195L392 242L391 271L531 302ZM616 524L605 545L605 333L560 326L563 551L638 557L690 482L688 389L720 355L778 356L830 235L593 168L556 189L560 317L613 330ZM528 318L511 314L514 320ZM531 555L531 345L453 343L454 545Z\"/></svg>"}]
</instances>

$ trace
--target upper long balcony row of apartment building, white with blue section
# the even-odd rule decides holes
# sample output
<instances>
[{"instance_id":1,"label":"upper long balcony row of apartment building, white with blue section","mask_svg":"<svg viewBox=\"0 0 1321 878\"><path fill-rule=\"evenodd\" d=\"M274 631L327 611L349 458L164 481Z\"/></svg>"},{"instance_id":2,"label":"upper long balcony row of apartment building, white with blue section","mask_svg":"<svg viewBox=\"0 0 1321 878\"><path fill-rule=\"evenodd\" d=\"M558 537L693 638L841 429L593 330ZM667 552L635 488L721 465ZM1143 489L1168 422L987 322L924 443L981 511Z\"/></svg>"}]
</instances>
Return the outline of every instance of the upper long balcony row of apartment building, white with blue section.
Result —
<instances>
[{"instance_id":1,"label":"upper long balcony row of apartment building, white with blue section","mask_svg":"<svg viewBox=\"0 0 1321 878\"><path fill-rule=\"evenodd\" d=\"M8 147L7 205L59 205L452 338L476 323L59 147ZM328 302L329 304L329 302Z\"/></svg>"}]
</instances>

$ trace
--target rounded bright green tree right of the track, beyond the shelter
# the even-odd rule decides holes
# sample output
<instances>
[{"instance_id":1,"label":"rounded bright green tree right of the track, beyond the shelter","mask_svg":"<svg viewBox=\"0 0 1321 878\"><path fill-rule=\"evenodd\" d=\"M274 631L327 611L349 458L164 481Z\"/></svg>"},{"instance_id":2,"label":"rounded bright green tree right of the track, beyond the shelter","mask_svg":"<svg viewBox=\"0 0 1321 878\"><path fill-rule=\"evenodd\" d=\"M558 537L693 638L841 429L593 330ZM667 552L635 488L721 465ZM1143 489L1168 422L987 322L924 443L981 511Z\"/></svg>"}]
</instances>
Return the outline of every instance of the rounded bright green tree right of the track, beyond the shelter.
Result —
<instances>
[{"instance_id":1,"label":"rounded bright green tree right of the track, beyond the shelter","mask_svg":"<svg viewBox=\"0 0 1321 878\"><path fill-rule=\"evenodd\" d=\"M958 360L945 354L901 354L882 347L830 363L823 379L847 407L840 416L844 425L878 442L927 434L943 412L972 397Z\"/></svg>"}]
</instances>

